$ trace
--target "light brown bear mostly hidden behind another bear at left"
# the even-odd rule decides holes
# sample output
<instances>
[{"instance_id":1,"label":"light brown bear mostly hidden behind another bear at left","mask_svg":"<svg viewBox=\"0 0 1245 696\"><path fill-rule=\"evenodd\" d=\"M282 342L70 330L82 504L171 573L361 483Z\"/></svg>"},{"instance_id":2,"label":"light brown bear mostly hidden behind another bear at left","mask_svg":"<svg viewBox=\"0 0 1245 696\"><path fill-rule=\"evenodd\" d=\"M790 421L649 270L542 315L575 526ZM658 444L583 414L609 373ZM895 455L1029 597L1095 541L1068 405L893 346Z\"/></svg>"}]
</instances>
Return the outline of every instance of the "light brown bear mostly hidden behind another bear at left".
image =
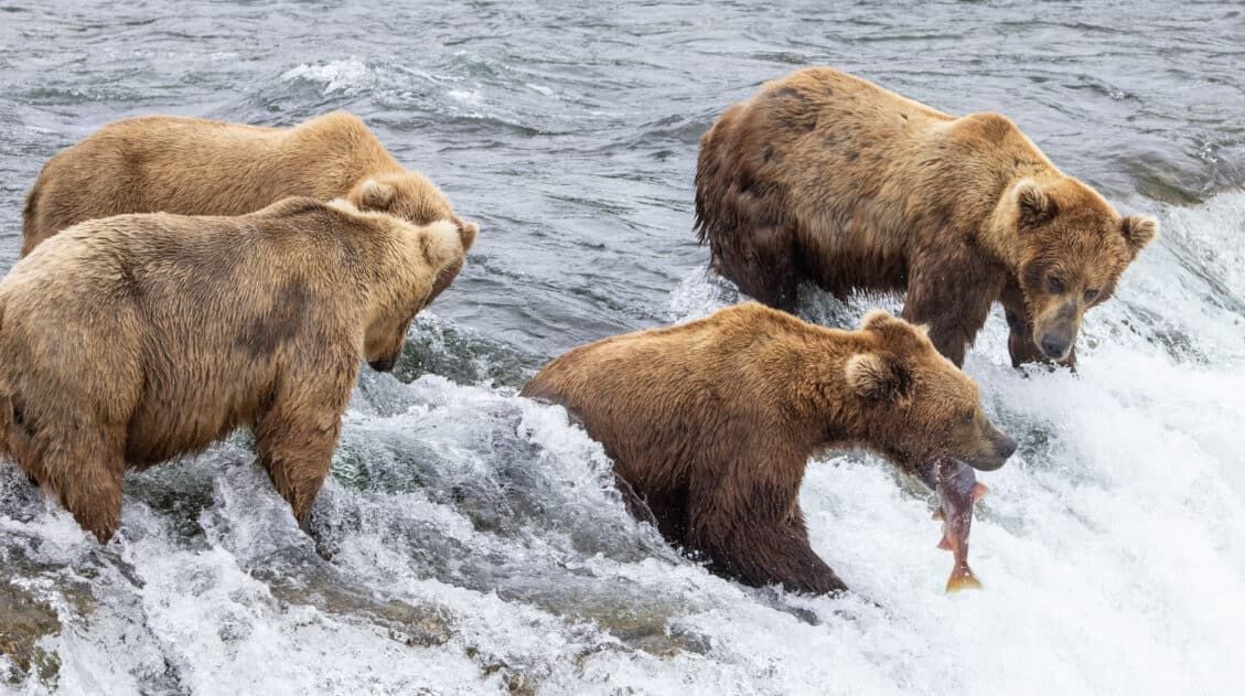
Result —
<instances>
[{"instance_id":1,"label":"light brown bear mostly hidden behind another bear at left","mask_svg":"<svg viewBox=\"0 0 1245 696\"><path fill-rule=\"evenodd\" d=\"M56 153L22 212L26 255L57 232L126 213L243 215L283 198L346 198L415 224L473 223L423 174L406 169L359 117L337 111L293 128L143 116L108 123ZM458 268L446 269L433 296Z\"/></svg>"}]
</instances>

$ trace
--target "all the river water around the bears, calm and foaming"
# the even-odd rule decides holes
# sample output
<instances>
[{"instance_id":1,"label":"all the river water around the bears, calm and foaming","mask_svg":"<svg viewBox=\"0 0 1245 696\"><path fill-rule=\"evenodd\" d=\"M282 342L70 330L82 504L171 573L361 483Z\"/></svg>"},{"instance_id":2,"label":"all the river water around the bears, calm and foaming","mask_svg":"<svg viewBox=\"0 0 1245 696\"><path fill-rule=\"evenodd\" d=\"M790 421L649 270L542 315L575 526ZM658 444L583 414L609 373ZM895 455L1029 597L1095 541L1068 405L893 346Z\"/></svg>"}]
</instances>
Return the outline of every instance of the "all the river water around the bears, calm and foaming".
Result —
<instances>
[{"instance_id":1,"label":"all the river water around the bears, calm and foaming","mask_svg":"<svg viewBox=\"0 0 1245 696\"><path fill-rule=\"evenodd\" d=\"M11 0L10 0L11 2ZM238 435L131 474L100 547L0 464L0 690L41 694L1230 694L1245 679L1245 9L1037 4L17 2L0 6L0 270L22 197L105 122L362 116L481 238L396 376L364 371L295 527ZM834 65L997 110L1162 239L1081 339L966 370L1021 448L946 595L929 496L809 464L814 549L857 590L718 579L627 517L565 413L561 351L740 299L695 244L698 136ZM870 305L815 290L801 313ZM758 462L763 466L763 462Z\"/></svg>"}]
</instances>

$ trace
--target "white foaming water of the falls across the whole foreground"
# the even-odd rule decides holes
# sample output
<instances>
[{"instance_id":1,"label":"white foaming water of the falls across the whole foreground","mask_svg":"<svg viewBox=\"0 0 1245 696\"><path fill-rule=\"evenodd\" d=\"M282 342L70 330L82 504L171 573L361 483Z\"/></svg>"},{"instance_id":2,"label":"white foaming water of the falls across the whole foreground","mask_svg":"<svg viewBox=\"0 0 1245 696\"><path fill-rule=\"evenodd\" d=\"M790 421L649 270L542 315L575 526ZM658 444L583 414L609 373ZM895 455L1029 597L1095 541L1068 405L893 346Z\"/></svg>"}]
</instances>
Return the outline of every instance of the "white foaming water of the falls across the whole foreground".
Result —
<instances>
[{"instance_id":1,"label":"white foaming water of the falls across the whole foreground","mask_svg":"<svg viewBox=\"0 0 1245 696\"><path fill-rule=\"evenodd\" d=\"M1164 215L1173 237L1205 240L1235 205ZM753 590L634 520L600 446L561 408L507 387L369 372L314 538L250 463L245 436L132 474L120 539L103 548L0 468L0 562L60 626L36 645L60 661L56 675L20 686L1231 692L1245 664L1234 431L1245 375L1231 341L1245 330L1230 305L1199 300L1233 286L1235 266L1196 273L1162 244L1088 322L1096 345L1078 375L1013 371L997 314L970 354L987 410L1022 443L981 476L992 489L972 535L982 591L942 593L951 560L934 548L928 493L872 456L812 462L801 494L814 549L855 594ZM671 313L740 299L697 270ZM807 290L801 313L852 325L878 301L899 306ZM4 670L20 671L11 659Z\"/></svg>"}]
</instances>

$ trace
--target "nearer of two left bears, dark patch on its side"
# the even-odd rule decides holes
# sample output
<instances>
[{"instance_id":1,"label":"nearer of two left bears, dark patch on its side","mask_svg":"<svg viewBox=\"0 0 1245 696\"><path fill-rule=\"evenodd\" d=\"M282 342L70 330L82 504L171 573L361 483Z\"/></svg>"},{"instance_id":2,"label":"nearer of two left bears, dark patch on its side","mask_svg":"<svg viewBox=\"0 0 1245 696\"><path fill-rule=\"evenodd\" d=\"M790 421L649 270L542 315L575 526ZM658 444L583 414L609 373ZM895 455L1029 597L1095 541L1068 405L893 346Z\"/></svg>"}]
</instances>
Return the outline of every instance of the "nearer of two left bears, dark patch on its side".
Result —
<instances>
[{"instance_id":1,"label":"nearer of two left bears, dark patch on its side","mask_svg":"<svg viewBox=\"0 0 1245 696\"><path fill-rule=\"evenodd\" d=\"M305 525L360 361L392 366L473 242L311 198L71 227L0 281L0 454L106 542L125 468L245 426Z\"/></svg>"}]
</instances>

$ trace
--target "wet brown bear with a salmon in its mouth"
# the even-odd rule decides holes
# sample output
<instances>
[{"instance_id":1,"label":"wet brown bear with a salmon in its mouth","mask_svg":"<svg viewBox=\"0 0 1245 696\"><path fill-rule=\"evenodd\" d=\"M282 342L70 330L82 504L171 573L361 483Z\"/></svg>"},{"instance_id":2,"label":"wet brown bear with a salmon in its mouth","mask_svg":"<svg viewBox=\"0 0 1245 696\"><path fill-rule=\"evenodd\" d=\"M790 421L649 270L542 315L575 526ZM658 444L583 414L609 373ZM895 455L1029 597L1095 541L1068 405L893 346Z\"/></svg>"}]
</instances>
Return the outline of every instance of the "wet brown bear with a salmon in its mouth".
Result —
<instances>
[{"instance_id":1,"label":"wet brown bear with a salmon in its mouth","mask_svg":"<svg viewBox=\"0 0 1245 696\"><path fill-rule=\"evenodd\" d=\"M996 469L1016 442L924 329L885 311L857 331L747 303L614 336L550 362L524 396L560 403L614 461L672 544L748 585L830 593L843 580L808 545L808 458L863 447L901 468L941 457Z\"/></svg>"}]
</instances>

